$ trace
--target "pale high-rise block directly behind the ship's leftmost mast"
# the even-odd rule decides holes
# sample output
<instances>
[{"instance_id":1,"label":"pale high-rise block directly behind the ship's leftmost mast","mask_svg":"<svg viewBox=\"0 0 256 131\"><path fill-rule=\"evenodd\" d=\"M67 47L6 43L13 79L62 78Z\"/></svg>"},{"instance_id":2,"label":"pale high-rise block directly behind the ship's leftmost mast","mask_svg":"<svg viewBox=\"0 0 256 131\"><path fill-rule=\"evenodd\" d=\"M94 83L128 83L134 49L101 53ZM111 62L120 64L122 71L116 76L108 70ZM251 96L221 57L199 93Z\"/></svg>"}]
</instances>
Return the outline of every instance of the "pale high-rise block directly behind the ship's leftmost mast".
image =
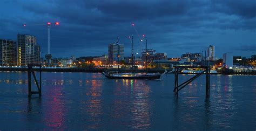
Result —
<instances>
[{"instance_id":1,"label":"pale high-rise block directly behind the ship's leftmost mast","mask_svg":"<svg viewBox=\"0 0 256 131\"><path fill-rule=\"evenodd\" d=\"M124 45L116 44L116 43L109 44L109 64L110 65L117 64L118 53L119 53L119 63L120 63L121 60L124 60Z\"/></svg>"}]
</instances>

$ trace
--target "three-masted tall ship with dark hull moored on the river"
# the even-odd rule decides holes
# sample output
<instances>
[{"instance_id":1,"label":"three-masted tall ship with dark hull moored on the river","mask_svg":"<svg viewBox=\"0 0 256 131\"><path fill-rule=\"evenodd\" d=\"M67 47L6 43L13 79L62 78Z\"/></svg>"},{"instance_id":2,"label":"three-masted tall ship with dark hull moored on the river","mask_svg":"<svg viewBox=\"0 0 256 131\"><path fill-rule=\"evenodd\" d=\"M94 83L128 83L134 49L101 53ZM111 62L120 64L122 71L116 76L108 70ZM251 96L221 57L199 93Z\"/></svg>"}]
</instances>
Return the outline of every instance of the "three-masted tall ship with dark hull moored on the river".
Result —
<instances>
[{"instance_id":1,"label":"three-masted tall ship with dark hull moored on the river","mask_svg":"<svg viewBox=\"0 0 256 131\"><path fill-rule=\"evenodd\" d=\"M119 54L117 54L117 59L118 59L118 71L113 72L113 71L104 71L102 74L109 79L148 79L148 80L155 80L155 79L160 79L161 74L160 73L148 73L147 72L147 39L146 41L146 72L143 73L138 73L134 72L134 57L133 57L133 36L132 36L132 73L121 73L119 72ZM117 41L119 43L119 39ZM118 51L119 52L119 51Z\"/></svg>"}]
</instances>

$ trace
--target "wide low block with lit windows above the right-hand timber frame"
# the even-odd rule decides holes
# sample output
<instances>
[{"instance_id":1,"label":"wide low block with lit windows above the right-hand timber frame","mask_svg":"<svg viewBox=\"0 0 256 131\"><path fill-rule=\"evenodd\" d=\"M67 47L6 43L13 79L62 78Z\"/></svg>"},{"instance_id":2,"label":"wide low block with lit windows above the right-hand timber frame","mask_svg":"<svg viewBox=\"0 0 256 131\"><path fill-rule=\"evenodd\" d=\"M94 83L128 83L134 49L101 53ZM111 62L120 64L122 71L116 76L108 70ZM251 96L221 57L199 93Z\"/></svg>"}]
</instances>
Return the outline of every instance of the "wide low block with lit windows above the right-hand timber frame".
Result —
<instances>
[{"instance_id":1,"label":"wide low block with lit windows above the right-hand timber frame","mask_svg":"<svg viewBox=\"0 0 256 131\"><path fill-rule=\"evenodd\" d=\"M187 62L199 62L202 60L202 54L201 53L185 53L181 56L181 61L187 61Z\"/></svg>"}]
</instances>

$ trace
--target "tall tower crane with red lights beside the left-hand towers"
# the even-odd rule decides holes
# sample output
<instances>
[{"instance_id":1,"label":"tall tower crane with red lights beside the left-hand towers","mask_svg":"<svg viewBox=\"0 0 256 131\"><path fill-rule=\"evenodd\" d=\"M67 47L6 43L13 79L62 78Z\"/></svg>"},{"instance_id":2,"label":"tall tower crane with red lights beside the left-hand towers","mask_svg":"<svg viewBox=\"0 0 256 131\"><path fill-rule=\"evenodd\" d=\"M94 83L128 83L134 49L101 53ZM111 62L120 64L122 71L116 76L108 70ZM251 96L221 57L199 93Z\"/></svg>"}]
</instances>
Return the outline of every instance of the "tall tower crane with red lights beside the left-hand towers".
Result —
<instances>
[{"instance_id":1,"label":"tall tower crane with red lights beside the left-hand towers","mask_svg":"<svg viewBox=\"0 0 256 131\"><path fill-rule=\"evenodd\" d=\"M51 56L51 54L50 54L50 26L52 25L50 22L47 22L46 24L32 24L32 25L26 25L26 24L23 24L23 26L47 26L47 31L48 31L48 33L47 33L47 36L48 36L48 52L47 52L47 54L45 54L45 58L46 58L46 60L47 60L47 63L48 63L48 65L50 65L51 64L51 58L52 58L52 56ZM54 25L59 25L59 22L55 22L54 23Z\"/></svg>"}]
</instances>

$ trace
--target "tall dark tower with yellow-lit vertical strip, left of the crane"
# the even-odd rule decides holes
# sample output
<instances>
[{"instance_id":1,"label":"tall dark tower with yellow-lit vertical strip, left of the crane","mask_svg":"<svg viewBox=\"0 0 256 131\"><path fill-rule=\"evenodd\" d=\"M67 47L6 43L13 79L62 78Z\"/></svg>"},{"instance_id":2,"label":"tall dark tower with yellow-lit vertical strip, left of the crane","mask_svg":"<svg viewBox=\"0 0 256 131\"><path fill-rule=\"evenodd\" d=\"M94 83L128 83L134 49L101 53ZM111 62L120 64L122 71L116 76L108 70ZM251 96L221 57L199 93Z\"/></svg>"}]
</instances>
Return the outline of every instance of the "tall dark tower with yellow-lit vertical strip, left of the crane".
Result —
<instances>
[{"instance_id":1,"label":"tall dark tower with yellow-lit vertical strip, left of the crane","mask_svg":"<svg viewBox=\"0 0 256 131\"><path fill-rule=\"evenodd\" d=\"M41 50L36 42L36 37L18 34L18 65L41 63Z\"/></svg>"}]
</instances>

